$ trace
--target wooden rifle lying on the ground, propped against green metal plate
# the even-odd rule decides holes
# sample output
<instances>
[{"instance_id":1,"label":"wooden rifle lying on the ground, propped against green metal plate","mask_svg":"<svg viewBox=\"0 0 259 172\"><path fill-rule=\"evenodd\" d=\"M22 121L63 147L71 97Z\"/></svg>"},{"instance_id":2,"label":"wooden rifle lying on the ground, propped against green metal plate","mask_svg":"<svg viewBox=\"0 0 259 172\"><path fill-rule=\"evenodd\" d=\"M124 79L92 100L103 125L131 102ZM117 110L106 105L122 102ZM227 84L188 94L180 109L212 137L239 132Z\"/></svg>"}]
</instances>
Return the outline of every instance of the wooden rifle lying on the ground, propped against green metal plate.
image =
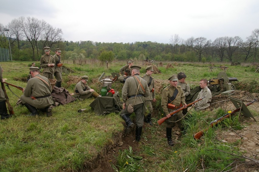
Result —
<instances>
[{"instance_id":1,"label":"wooden rifle lying on the ground, propped against green metal plate","mask_svg":"<svg viewBox=\"0 0 259 172\"><path fill-rule=\"evenodd\" d=\"M255 101L257 101L257 99L255 99L254 101L251 101L250 103L247 103L246 106L249 106L249 105L253 104ZM228 118L230 115L233 115L234 113L239 112L239 111L240 111L240 108L237 108L237 109L233 110L231 113L226 113L225 115L219 117L218 119L210 122L210 126L209 127L215 126L219 122L223 121L225 118ZM193 137L195 139L200 139L203 136L203 133L205 131L207 131L209 129L209 127L207 129L204 129L202 131L197 132Z\"/></svg>"}]
</instances>

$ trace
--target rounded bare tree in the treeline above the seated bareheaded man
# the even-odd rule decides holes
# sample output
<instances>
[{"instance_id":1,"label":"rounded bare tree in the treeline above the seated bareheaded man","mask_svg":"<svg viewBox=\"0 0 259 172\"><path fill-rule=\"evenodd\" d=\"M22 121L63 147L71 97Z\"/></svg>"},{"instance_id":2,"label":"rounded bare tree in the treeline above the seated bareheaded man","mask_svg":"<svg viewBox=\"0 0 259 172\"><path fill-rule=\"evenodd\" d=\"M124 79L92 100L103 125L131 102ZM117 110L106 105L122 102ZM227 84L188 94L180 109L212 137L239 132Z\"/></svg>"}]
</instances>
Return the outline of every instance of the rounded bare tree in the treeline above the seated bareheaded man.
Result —
<instances>
[{"instance_id":1,"label":"rounded bare tree in the treeline above the seated bareheaded man","mask_svg":"<svg viewBox=\"0 0 259 172\"><path fill-rule=\"evenodd\" d=\"M199 62L202 60L202 54L206 52L206 48L211 44L211 40L207 40L205 37L199 37L194 40L193 50L199 57Z\"/></svg>"}]
</instances>

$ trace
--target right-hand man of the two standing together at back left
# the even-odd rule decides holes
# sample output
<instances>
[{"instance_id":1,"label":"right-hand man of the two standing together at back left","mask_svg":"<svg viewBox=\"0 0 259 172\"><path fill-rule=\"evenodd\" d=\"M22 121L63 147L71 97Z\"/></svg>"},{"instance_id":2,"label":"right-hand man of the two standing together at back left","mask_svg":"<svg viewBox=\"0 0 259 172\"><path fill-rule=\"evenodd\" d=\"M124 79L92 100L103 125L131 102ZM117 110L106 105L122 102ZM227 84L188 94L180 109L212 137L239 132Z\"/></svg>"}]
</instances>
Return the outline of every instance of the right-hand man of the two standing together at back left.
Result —
<instances>
[{"instance_id":1,"label":"right-hand man of the two standing together at back left","mask_svg":"<svg viewBox=\"0 0 259 172\"><path fill-rule=\"evenodd\" d=\"M55 60L55 73L54 76L57 80L56 82L56 87L60 88L61 87L61 82L62 82L62 64L60 63L61 61L61 49L57 48L56 50L56 54L53 56L54 60ZM59 64L59 65L58 65Z\"/></svg>"}]
</instances>

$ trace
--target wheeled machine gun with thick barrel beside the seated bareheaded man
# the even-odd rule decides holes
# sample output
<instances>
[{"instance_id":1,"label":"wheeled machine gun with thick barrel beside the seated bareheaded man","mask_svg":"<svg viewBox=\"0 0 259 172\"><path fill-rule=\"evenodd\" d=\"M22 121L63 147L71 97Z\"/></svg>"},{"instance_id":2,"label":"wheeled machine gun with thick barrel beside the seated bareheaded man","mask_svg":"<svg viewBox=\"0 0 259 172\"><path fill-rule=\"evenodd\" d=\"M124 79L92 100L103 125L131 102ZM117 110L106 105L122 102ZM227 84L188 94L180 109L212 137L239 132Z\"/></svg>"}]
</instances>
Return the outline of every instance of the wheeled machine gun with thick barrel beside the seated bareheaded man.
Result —
<instances>
[{"instance_id":1,"label":"wheeled machine gun with thick barrel beside the seated bareheaded man","mask_svg":"<svg viewBox=\"0 0 259 172\"><path fill-rule=\"evenodd\" d=\"M229 78L229 77L227 77L225 72L220 72L218 74L217 78L210 79L208 81L208 84L210 84L210 86L216 87L216 88L219 88L219 87L221 89L226 88L226 92L228 93L227 95L231 95L234 93L234 90L235 90L235 85L231 83L233 81L238 81L238 79L235 77ZM224 95L224 93L222 95Z\"/></svg>"}]
</instances>

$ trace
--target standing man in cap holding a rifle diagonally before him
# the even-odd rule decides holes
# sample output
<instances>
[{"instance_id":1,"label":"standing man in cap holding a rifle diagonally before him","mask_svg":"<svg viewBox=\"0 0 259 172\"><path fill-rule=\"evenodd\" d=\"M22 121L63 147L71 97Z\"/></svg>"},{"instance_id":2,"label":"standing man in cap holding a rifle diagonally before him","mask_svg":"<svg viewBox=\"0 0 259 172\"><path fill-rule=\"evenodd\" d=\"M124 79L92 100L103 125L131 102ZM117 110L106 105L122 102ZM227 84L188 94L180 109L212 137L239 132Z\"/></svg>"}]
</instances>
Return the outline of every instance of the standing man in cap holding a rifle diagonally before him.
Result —
<instances>
[{"instance_id":1,"label":"standing man in cap holding a rifle diagonally before him","mask_svg":"<svg viewBox=\"0 0 259 172\"><path fill-rule=\"evenodd\" d=\"M174 127L175 121L181 119L183 114L182 111L178 112L174 116L171 116L169 113L178 109L181 105L186 106L186 103L183 90L181 89L181 86L177 85L177 75L174 74L168 80L170 85L162 91L161 107L163 108L164 116L167 116L168 118L165 121L167 142L169 146L174 146L172 141L172 128ZM178 121L177 124L178 127L183 130L181 121Z\"/></svg>"}]
</instances>

